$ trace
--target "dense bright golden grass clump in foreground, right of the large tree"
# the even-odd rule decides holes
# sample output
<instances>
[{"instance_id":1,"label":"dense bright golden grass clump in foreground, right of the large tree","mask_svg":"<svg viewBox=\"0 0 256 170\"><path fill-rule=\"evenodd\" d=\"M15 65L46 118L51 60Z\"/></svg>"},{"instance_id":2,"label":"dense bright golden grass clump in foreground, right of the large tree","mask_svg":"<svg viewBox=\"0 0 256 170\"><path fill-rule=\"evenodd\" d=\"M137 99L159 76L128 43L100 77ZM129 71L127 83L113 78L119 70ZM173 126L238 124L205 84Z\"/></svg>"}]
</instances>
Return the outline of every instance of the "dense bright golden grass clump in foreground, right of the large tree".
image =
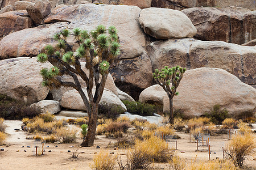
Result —
<instances>
[{"instance_id":1,"label":"dense bright golden grass clump in foreground, right of the large tree","mask_svg":"<svg viewBox=\"0 0 256 170\"><path fill-rule=\"evenodd\" d=\"M155 136L144 141L135 141L134 148L136 151L146 154L150 162L168 162L171 159L168 144Z\"/></svg>"}]
</instances>

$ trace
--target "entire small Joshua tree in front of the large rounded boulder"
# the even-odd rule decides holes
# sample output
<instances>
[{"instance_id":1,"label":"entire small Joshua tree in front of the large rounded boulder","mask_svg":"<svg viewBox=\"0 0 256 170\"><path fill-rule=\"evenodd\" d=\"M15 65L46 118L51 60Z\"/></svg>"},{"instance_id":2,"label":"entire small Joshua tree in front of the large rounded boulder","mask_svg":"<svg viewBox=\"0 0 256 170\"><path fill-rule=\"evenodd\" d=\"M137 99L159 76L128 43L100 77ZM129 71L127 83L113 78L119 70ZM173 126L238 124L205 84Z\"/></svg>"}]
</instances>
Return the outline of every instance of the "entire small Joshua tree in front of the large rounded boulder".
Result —
<instances>
[{"instance_id":1,"label":"entire small Joshua tree in front of the large rounded boulder","mask_svg":"<svg viewBox=\"0 0 256 170\"><path fill-rule=\"evenodd\" d=\"M155 73L153 73L156 83L158 83L161 87L163 87L163 90L166 91L169 97L169 102L170 102L169 121L171 124L174 124L174 109L173 109L174 104L173 104L172 98L175 95L179 94L178 92L176 92L176 90L180 84L180 80L182 79L182 76L185 71L186 69L180 66L176 66L172 68L168 68L168 66L165 66L164 69L162 69L161 71L159 71L158 69L155 69Z\"/></svg>"}]
</instances>

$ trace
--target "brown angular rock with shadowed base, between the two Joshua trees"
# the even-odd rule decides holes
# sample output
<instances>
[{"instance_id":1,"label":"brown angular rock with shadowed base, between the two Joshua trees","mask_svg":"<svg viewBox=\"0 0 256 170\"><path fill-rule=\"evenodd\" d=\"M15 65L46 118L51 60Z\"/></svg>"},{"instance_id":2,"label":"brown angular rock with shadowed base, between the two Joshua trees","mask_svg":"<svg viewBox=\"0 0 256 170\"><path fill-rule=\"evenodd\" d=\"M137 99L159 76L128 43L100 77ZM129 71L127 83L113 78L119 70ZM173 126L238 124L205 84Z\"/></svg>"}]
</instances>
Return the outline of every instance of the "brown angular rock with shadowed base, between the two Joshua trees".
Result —
<instances>
[{"instance_id":1,"label":"brown angular rock with shadowed base, between the two Joshua trees","mask_svg":"<svg viewBox=\"0 0 256 170\"><path fill-rule=\"evenodd\" d=\"M121 59L110 69L116 86L138 100L142 90L152 85L152 65L147 53L131 59Z\"/></svg>"}]
</instances>

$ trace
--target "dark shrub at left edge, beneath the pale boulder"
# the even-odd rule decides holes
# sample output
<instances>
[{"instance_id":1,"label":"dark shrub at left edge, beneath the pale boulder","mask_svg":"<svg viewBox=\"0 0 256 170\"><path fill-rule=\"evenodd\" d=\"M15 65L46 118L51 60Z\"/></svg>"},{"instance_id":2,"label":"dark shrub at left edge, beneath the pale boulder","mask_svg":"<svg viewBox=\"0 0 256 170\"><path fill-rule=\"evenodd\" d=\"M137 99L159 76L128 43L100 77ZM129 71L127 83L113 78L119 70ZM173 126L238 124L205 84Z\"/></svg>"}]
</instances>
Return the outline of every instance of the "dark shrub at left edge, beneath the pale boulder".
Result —
<instances>
[{"instance_id":1,"label":"dark shrub at left edge, beneath the pale boulder","mask_svg":"<svg viewBox=\"0 0 256 170\"><path fill-rule=\"evenodd\" d=\"M6 94L0 94L0 117L8 120L22 120L24 117L32 118L40 114L40 109L15 100Z\"/></svg>"}]
</instances>

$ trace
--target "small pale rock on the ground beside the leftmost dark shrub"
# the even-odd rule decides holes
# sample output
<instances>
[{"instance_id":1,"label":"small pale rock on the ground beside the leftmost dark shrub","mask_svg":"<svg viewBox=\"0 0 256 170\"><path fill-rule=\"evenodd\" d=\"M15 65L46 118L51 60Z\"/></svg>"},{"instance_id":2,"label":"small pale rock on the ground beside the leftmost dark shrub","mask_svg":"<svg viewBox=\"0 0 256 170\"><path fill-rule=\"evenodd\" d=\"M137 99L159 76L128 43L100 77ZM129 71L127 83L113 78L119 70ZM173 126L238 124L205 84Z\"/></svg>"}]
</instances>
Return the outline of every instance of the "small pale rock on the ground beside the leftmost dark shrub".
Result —
<instances>
[{"instance_id":1,"label":"small pale rock on the ground beside the leftmost dark shrub","mask_svg":"<svg viewBox=\"0 0 256 170\"><path fill-rule=\"evenodd\" d=\"M59 101L55 100L41 100L38 103L33 103L31 106L39 107L42 113L55 114L61 111Z\"/></svg>"}]
</instances>

